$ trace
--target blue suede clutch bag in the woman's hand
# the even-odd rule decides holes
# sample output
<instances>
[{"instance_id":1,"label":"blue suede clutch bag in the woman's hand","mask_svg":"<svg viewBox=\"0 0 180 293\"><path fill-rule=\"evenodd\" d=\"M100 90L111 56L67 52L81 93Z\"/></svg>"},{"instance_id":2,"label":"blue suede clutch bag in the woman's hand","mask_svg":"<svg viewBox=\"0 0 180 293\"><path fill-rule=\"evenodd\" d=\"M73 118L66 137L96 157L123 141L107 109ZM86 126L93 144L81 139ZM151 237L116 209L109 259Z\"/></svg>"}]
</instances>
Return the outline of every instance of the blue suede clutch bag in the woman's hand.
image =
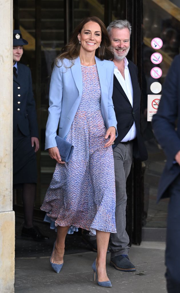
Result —
<instances>
[{"instance_id":1,"label":"blue suede clutch bag in the woman's hand","mask_svg":"<svg viewBox=\"0 0 180 293\"><path fill-rule=\"evenodd\" d=\"M63 138L60 136L56 135L56 144L59 149L59 154L61 156L62 161L68 162L71 158L71 155L73 153L73 145L70 144L69 142L66 142Z\"/></svg>"}]
</instances>

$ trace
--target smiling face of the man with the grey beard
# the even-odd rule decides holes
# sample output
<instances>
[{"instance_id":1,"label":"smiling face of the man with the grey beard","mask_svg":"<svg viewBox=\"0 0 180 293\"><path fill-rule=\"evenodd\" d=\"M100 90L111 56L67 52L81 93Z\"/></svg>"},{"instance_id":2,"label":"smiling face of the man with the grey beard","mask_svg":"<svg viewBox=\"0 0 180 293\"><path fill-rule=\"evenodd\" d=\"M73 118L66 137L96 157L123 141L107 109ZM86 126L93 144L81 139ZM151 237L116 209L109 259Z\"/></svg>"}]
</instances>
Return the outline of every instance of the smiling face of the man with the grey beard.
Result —
<instances>
[{"instance_id":1,"label":"smiling face of the man with the grey beard","mask_svg":"<svg viewBox=\"0 0 180 293\"><path fill-rule=\"evenodd\" d=\"M111 50L114 52L114 59L124 59L130 49L130 32L128 28L112 28L110 39Z\"/></svg>"}]
</instances>

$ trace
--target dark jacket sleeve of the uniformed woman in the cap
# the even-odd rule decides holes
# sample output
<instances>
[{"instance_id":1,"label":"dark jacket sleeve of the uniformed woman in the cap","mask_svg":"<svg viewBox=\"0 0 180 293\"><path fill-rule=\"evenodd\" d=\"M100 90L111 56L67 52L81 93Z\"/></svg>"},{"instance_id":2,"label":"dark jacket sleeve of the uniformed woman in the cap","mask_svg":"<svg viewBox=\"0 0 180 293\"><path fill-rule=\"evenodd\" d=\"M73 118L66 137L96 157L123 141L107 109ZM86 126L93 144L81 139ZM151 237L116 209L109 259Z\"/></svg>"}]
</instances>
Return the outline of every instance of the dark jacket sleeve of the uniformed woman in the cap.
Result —
<instances>
[{"instance_id":1,"label":"dark jacket sleeve of the uniformed woman in the cap","mask_svg":"<svg viewBox=\"0 0 180 293\"><path fill-rule=\"evenodd\" d=\"M37 115L36 115L36 105L32 92L32 77L31 71L28 68L28 79L29 79L29 89L27 97L27 114L29 121L30 137L39 137L38 136L38 126L37 126Z\"/></svg>"}]
</instances>

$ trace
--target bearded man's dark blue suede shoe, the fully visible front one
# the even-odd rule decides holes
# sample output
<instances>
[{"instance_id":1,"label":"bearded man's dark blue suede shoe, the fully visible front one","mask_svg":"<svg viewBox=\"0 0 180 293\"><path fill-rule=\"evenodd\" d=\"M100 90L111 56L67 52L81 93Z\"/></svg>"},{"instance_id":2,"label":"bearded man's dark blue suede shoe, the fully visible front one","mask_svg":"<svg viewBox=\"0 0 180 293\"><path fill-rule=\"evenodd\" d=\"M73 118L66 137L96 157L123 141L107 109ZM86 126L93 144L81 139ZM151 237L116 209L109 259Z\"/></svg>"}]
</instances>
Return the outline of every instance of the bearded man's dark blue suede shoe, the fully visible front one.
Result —
<instances>
[{"instance_id":1,"label":"bearded man's dark blue suede shoe, the fully visible front one","mask_svg":"<svg viewBox=\"0 0 180 293\"><path fill-rule=\"evenodd\" d=\"M135 266L130 262L127 254L121 254L111 258L110 266L123 272L136 271Z\"/></svg>"}]
</instances>

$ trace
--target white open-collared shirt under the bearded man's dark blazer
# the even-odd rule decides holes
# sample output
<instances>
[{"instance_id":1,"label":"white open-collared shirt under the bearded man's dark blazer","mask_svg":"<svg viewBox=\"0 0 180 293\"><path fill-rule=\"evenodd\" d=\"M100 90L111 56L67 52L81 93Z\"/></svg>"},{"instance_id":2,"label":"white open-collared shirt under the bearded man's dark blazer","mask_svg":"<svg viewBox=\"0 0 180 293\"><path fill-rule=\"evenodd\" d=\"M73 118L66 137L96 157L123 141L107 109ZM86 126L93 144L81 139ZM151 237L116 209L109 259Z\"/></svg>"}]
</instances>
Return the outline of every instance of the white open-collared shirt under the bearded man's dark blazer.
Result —
<instances>
[{"instance_id":1,"label":"white open-collared shirt under the bearded man's dark blazer","mask_svg":"<svg viewBox=\"0 0 180 293\"><path fill-rule=\"evenodd\" d=\"M114 74L121 84L123 91L125 92L126 96L128 97L131 106L133 107L133 86L131 82L131 76L128 69L128 60L126 57L124 58L124 78L121 72L118 70L117 66L114 66ZM132 140L136 137L136 126L135 122L133 123L132 127L126 134L126 136L121 140L121 142L127 142L128 140Z\"/></svg>"}]
</instances>

